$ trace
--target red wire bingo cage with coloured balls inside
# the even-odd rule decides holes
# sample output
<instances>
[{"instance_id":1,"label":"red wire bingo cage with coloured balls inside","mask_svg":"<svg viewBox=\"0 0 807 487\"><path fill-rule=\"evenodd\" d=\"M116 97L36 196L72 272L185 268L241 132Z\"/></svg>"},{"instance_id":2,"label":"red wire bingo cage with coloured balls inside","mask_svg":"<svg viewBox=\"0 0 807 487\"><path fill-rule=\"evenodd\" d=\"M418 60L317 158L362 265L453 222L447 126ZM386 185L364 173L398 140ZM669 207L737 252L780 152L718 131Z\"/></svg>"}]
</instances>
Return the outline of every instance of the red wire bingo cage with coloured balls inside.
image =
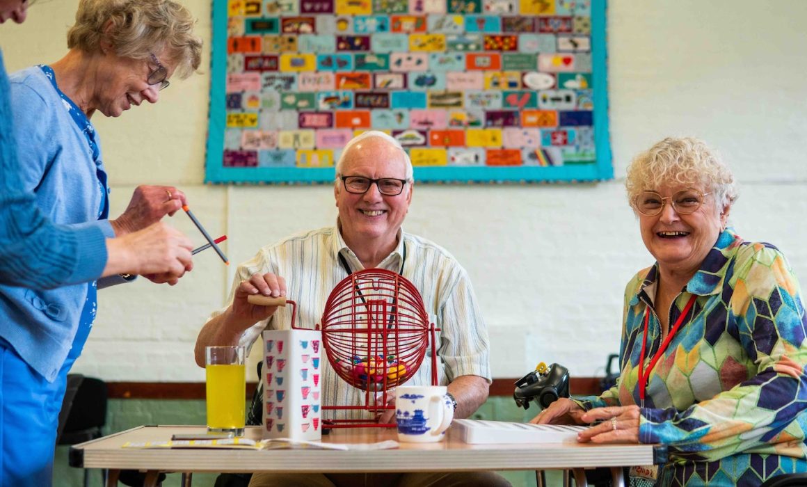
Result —
<instances>
[{"instance_id":1,"label":"red wire bingo cage with coloured balls inside","mask_svg":"<svg viewBox=\"0 0 807 487\"><path fill-rule=\"evenodd\" d=\"M432 384L437 385L435 332L420 292L384 269L354 272L337 284L322 315L322 343L333 370L364 391L363 405L323 405L331 410L381 413L388 391L415 375L431 342ZM394 426L368 419L332 419L328 427Z\"/></svg>"}]
</instances>

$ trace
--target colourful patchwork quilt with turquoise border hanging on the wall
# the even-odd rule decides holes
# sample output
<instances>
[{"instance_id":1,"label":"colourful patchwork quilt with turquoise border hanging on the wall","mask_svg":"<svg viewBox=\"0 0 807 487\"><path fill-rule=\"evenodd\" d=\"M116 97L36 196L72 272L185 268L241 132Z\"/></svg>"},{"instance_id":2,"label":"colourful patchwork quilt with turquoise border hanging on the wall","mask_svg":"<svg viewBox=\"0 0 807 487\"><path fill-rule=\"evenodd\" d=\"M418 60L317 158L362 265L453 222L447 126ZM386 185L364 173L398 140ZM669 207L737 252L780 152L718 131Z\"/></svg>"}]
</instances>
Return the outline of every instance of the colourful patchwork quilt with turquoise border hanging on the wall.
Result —
<instances>
[{"instance_id":1,"label":"colourful patchwork quilt with turquoise border hanging on the wall","mask_svg":"<svg viewBox=\"0 0 807 487\"><path fill-rule=\"evenodd\" d=\"M418 181L613 178L605 0L214 0L208 183L331 182L383 130Z\"/></svg>"}]
</instances>

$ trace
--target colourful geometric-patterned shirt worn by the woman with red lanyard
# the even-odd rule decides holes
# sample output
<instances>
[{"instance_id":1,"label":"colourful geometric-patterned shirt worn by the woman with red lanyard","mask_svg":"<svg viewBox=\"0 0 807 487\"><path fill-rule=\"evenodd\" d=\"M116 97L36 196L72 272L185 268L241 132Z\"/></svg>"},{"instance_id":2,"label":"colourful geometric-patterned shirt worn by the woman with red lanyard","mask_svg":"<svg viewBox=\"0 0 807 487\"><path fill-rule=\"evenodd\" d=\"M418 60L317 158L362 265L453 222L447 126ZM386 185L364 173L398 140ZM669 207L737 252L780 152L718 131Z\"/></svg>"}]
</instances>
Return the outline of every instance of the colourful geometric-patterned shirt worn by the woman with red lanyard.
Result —
<instances>
[{"instance_id":1,"label":"colourful geometric-patterned shirt worn by the woman with red lanyard","mask_svg":"<svg viewBox=\"0 0 807 487\"><path fill-rule=\"evenodd\" d=\"M658 263L625 289L621 377L584 409L640 404L638 363L659 350L652 309ZM671 307L669 323L696 301L650 372L639 439L665 443L670 462L659 485L759 485L783 472L807 472L807 318L784 255L731 230L717 238ZM666 312L666 310L658 310Z\"/></svg>"}]
</instances>

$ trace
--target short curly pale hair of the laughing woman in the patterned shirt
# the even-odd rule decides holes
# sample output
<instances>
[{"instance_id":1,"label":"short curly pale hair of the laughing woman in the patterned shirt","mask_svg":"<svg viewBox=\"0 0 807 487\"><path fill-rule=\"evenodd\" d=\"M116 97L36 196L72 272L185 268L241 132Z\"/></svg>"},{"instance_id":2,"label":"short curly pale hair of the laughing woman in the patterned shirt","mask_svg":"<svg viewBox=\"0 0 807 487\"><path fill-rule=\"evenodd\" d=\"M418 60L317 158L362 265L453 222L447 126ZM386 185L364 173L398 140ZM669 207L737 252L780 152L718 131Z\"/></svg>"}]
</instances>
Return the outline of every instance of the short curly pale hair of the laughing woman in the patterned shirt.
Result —
<instances>
[{"instance_id":1,"label":"short curly pale hair of the laughing woman in the patterned shirt","mask_svg":"<svg viewBox=\"0 0 807 487\"><path fill-rule=\"evenodd\" d=\"M704 187L718 208L733 204L738 196L729 166L694 137L667 137L630 162L625 180L629 203L642 191L660 191L666 185Z\"/></svg>"}]
</instances>

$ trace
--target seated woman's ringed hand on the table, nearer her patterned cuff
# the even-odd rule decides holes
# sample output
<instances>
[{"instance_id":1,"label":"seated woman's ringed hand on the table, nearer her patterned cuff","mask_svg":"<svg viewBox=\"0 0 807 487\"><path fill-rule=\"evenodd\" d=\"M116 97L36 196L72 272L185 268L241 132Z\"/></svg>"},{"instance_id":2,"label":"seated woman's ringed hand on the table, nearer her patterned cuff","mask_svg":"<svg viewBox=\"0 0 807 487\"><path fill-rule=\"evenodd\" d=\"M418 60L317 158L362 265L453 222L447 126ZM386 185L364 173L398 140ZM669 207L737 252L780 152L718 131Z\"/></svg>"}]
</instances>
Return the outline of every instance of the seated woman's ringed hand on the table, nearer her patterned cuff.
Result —
<instances>
[{"instance_id":1,"label":"seated woman's ringed hand on the table, nearer her patterned cuff","mask_svg":"<svg viewBox=\"0 0 807 487\"><path fill-rule=\"evenodd\" d=\"M577 440L581 443L639 443L641 417L638 405L591 409L583 414L583 421L601 422L581 431Z\"/></svg>"}]
</instances>

